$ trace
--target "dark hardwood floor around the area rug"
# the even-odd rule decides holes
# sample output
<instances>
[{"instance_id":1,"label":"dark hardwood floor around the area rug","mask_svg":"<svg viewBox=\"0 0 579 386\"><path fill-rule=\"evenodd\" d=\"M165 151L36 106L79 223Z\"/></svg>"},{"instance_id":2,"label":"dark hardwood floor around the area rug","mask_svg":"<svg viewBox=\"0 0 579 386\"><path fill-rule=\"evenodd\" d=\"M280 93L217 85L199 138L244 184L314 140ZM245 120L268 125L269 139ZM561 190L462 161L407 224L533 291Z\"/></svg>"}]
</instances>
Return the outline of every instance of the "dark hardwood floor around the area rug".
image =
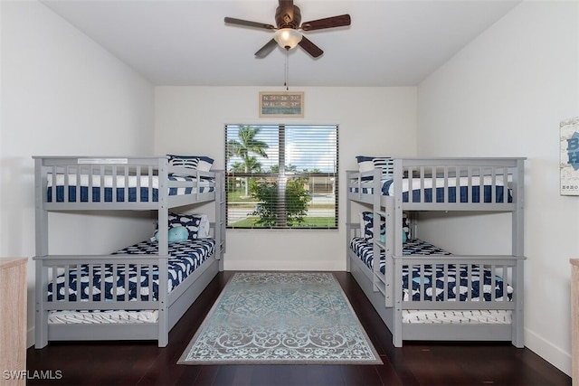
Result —
<instances>
[{"instance_id":1,"label":"dark hardwood floor around the area rug","mask_svg":"<svg viewBox=\"0 0 579 386\"><path fill-rule=\"evenodd\" d=\"M571 378L509 343L405 343L388 332L356 281L335 272L382 365L177 365L233 272L220 273L156 342L50 343L27 351L29 385L570 385ZM52 378L52 379L43 379Z\"/></svg>"}]
</instances>

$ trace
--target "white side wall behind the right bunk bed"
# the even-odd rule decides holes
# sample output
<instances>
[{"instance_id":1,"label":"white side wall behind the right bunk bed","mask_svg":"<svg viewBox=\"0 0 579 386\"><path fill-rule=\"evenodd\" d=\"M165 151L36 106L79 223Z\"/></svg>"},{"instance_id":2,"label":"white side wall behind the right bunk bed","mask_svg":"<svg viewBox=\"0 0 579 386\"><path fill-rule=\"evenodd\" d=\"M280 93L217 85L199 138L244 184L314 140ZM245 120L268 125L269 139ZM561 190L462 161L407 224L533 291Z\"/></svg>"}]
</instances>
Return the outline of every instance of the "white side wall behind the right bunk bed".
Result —
<instances>
[{"instance_id":1,"label":"white side wall behind the right bunk bed","mask_svg":"<svg viewBox=\"0 0 579 386\"><path fill-rule=\"evenodd\" d=\"M559 122L579 116L578 72L579 3L528 1L418 91L420 155L527 156L526 345L567 374L579 198L559 195ZM467 223L445 242L470 249ZM479 226L497 232L488 216Z\"/></svg>"}]
</instances>

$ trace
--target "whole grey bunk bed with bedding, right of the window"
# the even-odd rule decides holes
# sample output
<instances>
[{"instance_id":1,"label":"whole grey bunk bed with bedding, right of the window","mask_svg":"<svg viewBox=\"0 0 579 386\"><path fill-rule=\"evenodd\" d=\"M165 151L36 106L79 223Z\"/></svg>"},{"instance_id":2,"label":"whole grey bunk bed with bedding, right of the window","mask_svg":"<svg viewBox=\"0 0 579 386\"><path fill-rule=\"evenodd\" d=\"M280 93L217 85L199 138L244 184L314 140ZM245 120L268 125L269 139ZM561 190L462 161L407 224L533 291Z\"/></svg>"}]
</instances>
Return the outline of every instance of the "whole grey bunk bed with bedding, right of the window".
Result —
<instances>
[{"instance_id":1,"label":"whole grey bunk bed with bedding, right of the window","mask_svg":"<svg viewBox=\"0 0 579 386\"><path fill-rule=\"evenodd\" d=\"M524 346L524 161L383 157L373 168L346 172L347 270L394 346L411 340ZM419 239L416 219L426 211L510 213L511 254L462 256Z\"/></svg>"}]
</instances>

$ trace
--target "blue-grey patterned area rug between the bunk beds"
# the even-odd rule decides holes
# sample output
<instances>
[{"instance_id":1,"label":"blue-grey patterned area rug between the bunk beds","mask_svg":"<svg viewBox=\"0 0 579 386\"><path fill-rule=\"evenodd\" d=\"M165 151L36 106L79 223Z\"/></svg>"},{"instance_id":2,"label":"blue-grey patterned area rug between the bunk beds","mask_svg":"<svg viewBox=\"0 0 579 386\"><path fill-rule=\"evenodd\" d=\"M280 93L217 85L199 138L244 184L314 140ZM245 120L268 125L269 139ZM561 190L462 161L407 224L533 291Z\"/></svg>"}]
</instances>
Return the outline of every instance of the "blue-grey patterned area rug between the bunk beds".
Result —
<instances>
[{"instance_id":1,"label":"blue-grey patterned area rug between the bunk beds","mask_svg":"<svg viewBox=\"0 0 579 386\"><path fill-rule=\"evenodd\" d=\"M178 364L382 363L326 272L238 272Z\"/></svg>"}]
</instances>

